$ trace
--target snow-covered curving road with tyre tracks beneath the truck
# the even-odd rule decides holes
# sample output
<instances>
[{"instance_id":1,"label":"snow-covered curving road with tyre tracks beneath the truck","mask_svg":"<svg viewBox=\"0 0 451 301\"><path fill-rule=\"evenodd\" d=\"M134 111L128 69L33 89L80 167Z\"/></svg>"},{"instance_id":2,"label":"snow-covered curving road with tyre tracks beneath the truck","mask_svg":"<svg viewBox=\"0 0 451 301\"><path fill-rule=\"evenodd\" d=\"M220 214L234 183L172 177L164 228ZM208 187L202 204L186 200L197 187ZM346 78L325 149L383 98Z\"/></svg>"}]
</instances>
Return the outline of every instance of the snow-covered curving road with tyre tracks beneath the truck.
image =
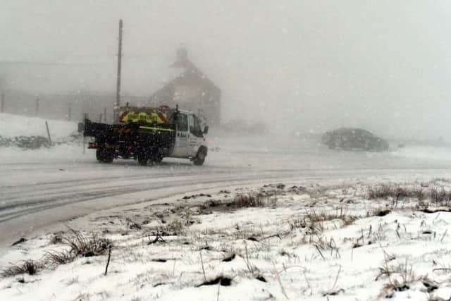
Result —
<instances>
[{"instance_id":1,"label":"snow-covered curving road with tyre tracks beneath the truck","mask_svg":"<svg viewBox=\"0 0 451 301\"><path fill-rule=\"evenodd\" d=\"M204 166L99 164L79 145L0 149L0 245L44 226L125 204L229 185L321 179L415 180L450 175L451 150L335 152L298 137L212 139Z\"/></svg>"}]
</instances>

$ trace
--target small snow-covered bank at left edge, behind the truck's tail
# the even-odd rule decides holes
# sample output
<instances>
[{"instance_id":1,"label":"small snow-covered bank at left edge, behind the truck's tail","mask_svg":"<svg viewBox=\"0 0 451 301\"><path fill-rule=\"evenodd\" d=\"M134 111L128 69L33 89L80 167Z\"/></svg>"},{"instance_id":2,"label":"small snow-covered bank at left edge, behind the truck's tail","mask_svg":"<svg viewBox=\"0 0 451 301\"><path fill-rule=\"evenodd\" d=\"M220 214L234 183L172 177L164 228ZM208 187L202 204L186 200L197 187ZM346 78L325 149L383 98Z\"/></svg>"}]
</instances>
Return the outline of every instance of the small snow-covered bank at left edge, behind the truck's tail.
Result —
<instances>
[{"instance_id":1,"label":"small snow-covered bank at left edge, behind the truck's tail","mask_svg":"<svg viewBox=\"0 0 451 301\"><path fill-rule=\"evenodd\" d=\"M0 113L0 136L43 136L47 137L46 119ZM51 139L61 140L77 132L77 123L72 121L47 120Z\"/></svg>"}]
</instances>

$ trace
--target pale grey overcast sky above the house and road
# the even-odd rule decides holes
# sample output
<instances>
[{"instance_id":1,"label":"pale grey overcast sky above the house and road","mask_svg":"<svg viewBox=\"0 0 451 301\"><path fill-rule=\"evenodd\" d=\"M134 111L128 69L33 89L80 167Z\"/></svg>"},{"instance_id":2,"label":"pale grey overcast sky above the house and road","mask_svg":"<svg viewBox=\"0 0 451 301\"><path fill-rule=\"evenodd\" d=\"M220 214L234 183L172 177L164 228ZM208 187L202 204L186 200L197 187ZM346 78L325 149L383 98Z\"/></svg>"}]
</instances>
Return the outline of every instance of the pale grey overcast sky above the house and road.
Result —
<instances>
[{"instance_id":1,"label":"pale grey overcast sky above the house and road","mask_svg":"<svg viewBox=\"0 0 451 301\"><path fill-rule=\"evenodd\" d=\"M0 0L0 61L89 61L114 90L161 87L175 48L223 90L225 119L278 130L363 126L451 140L450 1ZM165 69L165 70L162 70ZM101 80L99 80L101 78Z\"/></svg>"}]
</instances>

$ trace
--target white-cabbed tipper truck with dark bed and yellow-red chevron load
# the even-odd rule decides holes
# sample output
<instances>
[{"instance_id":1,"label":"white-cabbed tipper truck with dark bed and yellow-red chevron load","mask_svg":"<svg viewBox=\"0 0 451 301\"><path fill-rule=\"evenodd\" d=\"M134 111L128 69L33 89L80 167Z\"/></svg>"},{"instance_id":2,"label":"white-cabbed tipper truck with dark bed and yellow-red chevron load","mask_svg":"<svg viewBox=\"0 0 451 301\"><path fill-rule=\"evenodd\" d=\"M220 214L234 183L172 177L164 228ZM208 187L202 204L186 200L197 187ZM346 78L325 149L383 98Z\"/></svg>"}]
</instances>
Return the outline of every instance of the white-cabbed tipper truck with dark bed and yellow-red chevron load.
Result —
<instances>
[{"instance_id":1,"label":"white-cabbed tipper truck with dark bed and yellow-red chevron load","mask_svg":"<svg viewBox=\"0 0 451 301\"><path fill-rule=\"evenodd\" d=\"M204 164L208 126L201 128L191 111L124 106L118 109L118 124L85 120L83 135L94 137L89 148L97 149L97 160L135 159L142 165L159 164L165 157L190 159Z\"/></svg>"}]
</instances>

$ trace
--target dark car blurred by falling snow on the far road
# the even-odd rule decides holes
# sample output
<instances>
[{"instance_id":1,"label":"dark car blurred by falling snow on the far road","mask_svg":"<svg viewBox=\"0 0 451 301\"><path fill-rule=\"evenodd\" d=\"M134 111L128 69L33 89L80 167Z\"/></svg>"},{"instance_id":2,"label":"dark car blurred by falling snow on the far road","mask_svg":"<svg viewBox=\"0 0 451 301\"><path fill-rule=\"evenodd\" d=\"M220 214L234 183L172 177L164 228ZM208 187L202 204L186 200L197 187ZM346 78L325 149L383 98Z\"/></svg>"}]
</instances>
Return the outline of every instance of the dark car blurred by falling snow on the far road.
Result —
<instances>
[{"instance_id":1,"label":"dark car blurred by falling snow on the far road","mask_svg":"<svg viewBox=\"0 0 451 301\"><path fill-rule=\"evenodd\" d=\"M388 150L388 142L362 128L339 128L327 132L322 137L323 144L330 149L383 152Z\"/></svg>"}]
</instances>

